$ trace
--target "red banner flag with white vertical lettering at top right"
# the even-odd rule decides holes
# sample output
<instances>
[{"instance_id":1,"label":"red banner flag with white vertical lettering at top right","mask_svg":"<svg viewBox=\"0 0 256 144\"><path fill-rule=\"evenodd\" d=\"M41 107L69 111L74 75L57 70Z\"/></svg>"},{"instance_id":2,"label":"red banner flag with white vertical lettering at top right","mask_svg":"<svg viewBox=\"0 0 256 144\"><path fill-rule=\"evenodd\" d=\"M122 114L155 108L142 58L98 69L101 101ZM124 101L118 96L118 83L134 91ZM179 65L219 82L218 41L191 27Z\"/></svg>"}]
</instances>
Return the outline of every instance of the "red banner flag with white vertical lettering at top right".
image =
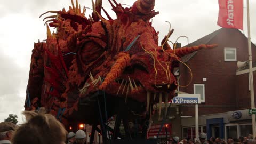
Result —
<instances>
[{"instance_id":1,"label":"red banner flag with white vertical lettering at top right","mask_svg":"<svg viewBox=\"0 0 256 144\"><path fill-rule=\"evenodd\" d=\"M219 0L218 25L243 30L243 0Z\"/></svg>"}]
</instances>

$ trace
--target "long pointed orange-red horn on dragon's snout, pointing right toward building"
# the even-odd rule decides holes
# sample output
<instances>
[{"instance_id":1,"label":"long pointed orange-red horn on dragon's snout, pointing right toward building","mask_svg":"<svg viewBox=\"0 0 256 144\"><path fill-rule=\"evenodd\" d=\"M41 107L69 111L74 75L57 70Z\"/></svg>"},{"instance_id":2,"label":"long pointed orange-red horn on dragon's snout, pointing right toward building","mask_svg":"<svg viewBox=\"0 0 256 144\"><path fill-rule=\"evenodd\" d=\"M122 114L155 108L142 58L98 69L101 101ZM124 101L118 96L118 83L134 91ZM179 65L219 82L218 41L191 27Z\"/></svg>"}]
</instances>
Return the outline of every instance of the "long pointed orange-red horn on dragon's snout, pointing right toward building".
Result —
<instances>
[{"instance_id":1,"label":"long pointed orange-red horn on dragon's snout, pointing right toward building","mask_svg":"<svg viewBox=\"0 0 256 144\"><path fill-rule=\"evenodd\" d=\"M201 44L198 46L192 46L192 47L182 47L180 49L169 49L167 50L168 52L171 52L172 54L175 53L175 55L177 55L178 57L183 57L187 54L193 53L195 51L201 50L201 49L211 49L213 47L217 47L217 44L212 44L212 45L205 45L205 44Z\"/></svg>"}]
</instances>

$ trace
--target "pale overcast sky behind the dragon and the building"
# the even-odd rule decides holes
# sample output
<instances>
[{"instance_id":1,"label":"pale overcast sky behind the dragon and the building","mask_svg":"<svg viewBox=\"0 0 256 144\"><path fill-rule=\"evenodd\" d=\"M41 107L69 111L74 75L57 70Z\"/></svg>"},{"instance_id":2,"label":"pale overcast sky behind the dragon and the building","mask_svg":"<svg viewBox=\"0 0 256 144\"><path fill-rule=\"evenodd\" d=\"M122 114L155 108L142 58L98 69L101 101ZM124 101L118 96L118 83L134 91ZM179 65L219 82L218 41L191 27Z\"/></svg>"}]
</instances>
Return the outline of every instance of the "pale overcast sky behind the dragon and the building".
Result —
<instances>
[{"instance_id":1,"label":"pale overcast sky behind the dragon and the building","mask_svg":"<svg viewBox=\"0 0 256 144\"><path fill-rule=\"evenodd\" d=\"M75 0L74 0L75 1ZM103 7L112 18L107 0ZM135 1L135 0L134 0ZM118 3L132 5L132 0L117 0ZM81 7L92 7L90 0L79 0ZM39 15L48 10L62 10L71 5L69 0L1 0L0 2L0 122L8 114L17 114L22 122L21 111L25 103L31 50L38 39L46 39L46 27ZM124 5L125 6L125 5ZM251 37L256 42L256 1L250 1ZM187 36L189 43L218 30L218 0L156 0L155 10L159 15L153 18L153 26L159 31L162 40L169 30L174 29L170 40ZM86 10L86 15L91 14ZM254 27L253 27L254 26ZM244 1L244 31L247 36L246 1ZM187 45L185 38L179 39L182 46ZM255 56L254 56L255 57Z\"/></svg>"}]
</instances>

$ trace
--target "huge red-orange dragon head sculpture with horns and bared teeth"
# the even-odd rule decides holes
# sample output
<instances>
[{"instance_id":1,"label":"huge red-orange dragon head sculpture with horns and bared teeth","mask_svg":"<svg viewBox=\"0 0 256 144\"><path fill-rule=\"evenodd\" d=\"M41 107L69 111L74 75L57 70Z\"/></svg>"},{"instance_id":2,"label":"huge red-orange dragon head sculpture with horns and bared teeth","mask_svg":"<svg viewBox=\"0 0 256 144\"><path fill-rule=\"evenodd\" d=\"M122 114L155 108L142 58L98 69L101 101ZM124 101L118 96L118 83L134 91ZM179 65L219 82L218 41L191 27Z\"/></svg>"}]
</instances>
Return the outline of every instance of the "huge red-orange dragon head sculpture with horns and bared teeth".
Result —
<instances>
[{"instance_id":1,"label":"huge red-orange dragon head sculpture with horns and bared teeth","mask_svg":"<svg viewBox=\"0 0 256 144\"><path fill-rule=\"evenodd\" d=\"M68 11L46 12L54 15L44 18L46 42L34 44L26 110L45 107L65 126L74 121L97 125L99 119L120 113L123 105L134 115L151 113L152 104L175 96L173 69L180 58L216 46L171 49L167 41L173 29L158 46L158 32L150 22L158 14L155 0L137 0L129 8L108 1L116 19L103 9L102 0L92 1L89 18L77 0L76 5L71 0Z\"/></svg>"}]
</instances>

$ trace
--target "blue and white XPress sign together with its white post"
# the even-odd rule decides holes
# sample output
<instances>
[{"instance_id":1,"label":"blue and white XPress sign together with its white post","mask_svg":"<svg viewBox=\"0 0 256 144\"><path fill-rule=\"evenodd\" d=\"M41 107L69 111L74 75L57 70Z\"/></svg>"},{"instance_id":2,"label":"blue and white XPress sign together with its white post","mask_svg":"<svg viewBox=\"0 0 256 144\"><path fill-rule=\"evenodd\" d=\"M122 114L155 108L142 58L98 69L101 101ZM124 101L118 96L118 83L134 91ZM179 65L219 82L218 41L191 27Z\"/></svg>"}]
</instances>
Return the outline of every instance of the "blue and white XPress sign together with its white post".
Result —
<instances>
[{"instance_id":1,"label":"blue and white XPress sign together with its white post","mask_svg":"<svg viewBox=\"0 0 256 144\"><path fill-rule=\"evenodd\" d=\"M198 103L201 103L200 94L179 94L173 98L173 103L177 104L195 104L195 127L196 138L199 138L198 134Z\"/></svg>"}]
</instances>

